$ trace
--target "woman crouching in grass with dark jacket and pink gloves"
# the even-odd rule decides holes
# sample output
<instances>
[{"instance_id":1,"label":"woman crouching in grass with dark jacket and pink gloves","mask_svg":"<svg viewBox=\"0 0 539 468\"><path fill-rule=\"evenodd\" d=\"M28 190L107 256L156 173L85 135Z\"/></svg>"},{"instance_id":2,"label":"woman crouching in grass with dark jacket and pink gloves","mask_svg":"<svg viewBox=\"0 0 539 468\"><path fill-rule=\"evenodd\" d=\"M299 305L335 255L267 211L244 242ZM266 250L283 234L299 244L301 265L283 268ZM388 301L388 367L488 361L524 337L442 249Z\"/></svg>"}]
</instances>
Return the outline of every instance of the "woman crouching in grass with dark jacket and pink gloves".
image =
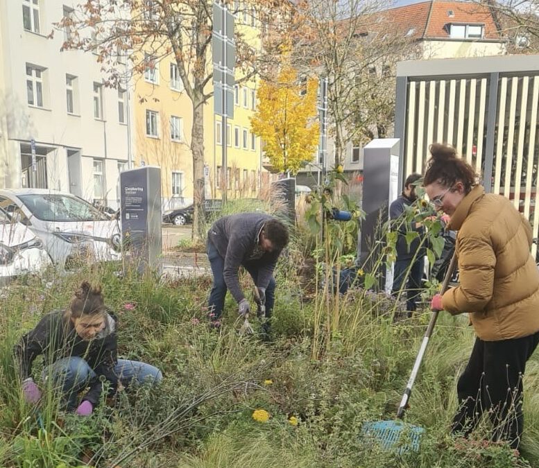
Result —
<instances>
[{"instance_id":1,"label":"woman crouching in grass with dark jacket and pink gloves","mask_svg":"<svg viewBox=\"0 0 539 468\"><path fill-rule=\"evenodd\" d=\"M31 377L32 363L40 354L46 365L42 378L52 379L61 392L63 408L78 415L92 414L105 380L110 383L110 394L118 383L162 380L161 371L153 365L117 358L117 319L105 307L101 287L87 281L76 291L69 309L44 315L15 346L24 399L31 404L41 397ZM78 392L87 387L78 404Z\"/></svg>"}]
</instances>

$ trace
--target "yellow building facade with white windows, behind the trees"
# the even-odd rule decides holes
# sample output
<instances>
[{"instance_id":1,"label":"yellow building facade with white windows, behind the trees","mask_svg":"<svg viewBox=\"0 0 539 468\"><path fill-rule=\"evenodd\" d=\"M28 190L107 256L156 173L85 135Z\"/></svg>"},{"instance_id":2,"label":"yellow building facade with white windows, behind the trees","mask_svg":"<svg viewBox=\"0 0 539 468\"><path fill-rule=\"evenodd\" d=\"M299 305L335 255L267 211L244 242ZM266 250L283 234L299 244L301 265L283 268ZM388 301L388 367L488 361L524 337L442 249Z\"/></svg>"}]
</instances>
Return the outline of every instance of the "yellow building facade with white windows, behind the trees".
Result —
<instances>
[{"instance_id":1,"label":"yellow building facade with white windows, behind the trees","mask_svg":"<svg viewBox=\"0 0 539 468\"><path fill-rule=\"evenodd\" d=\"M236 28L248 44L260 50L259 21L251 12L236 15ZM211 55L209 56L211 61ZM148 65L135 78L135 165L161 168L163 209L189 205L194 197L191 156L192 105L185 93L173 55L146 57ZM222 164L221 116L214 114L213 98L204 107L205 197L221 198L227 179L228 198L255 198L262 173L260 139L250 129L257 107L257 81L241 82L234 89L234 118L227 125L227 169ZM212 91L209 83L207 92Z\"/></svg>"}]
</instances>

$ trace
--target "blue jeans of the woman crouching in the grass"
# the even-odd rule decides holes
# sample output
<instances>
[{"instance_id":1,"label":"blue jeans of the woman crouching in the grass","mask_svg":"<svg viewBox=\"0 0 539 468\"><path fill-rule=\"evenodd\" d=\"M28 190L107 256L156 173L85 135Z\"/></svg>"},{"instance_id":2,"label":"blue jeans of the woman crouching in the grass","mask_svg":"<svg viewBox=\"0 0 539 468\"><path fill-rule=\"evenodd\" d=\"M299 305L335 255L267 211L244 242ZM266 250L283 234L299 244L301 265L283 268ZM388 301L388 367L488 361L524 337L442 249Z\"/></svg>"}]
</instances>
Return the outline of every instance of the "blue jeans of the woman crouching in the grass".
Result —
<instances>
[{"instance_id":1,"label":"blue jeans of the woman crouching in the grass","mask_svg":"<svg viewBox=\"0 0 539 468\"><path fill-rule=\"evenodd\" d=\"M144 381L160 383L163 379L163 374L157 367L127 359L118 359L114 374L119 377L119 381L124 387L127 387L133 379L141 384ZM76 408L78 392L84 390L89 383L97 379L92 367L78 356L58 359L50 366L45 367L43 376L51 376L55 386L61 390L67 410Z\"/></svg>"}]
</instances>

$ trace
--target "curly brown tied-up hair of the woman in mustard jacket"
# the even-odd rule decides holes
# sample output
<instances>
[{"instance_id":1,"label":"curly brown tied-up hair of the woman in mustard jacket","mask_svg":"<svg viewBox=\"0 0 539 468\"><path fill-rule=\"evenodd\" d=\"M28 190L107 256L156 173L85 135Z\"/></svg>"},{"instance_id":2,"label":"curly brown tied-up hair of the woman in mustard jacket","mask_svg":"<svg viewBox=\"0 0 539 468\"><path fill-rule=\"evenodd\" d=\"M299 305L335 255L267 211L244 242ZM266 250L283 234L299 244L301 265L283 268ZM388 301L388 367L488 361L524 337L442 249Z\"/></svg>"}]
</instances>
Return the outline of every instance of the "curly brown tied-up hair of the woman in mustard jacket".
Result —
<instances>
[{"instance_id":1,"label":"curly brown tied-up hair of the woman in mustard jacket","mask_svg":"<svg viewBox=\"0 0 539 468\"><path fill-rule=\"evenodd\" d=\"M453 187L456 182L462 182L465 193L469 193L472 187L477 185L477 173L468 162L456 155L455 148L433 143L429 151L431 158L427 162L427 171L423 177L424 186L438 182L443 187Z\"/></svg>"}]
</instances>

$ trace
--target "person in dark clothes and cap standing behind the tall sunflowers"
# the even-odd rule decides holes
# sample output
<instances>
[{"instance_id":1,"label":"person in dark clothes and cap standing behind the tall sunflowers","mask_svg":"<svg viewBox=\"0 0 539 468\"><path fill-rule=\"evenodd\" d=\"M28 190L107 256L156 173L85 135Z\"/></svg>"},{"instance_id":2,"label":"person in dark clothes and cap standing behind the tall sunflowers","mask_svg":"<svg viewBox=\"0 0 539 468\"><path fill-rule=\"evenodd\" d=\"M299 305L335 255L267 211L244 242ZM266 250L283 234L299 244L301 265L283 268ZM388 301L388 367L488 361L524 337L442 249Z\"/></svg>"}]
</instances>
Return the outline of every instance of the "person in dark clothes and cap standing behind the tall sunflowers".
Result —
<instances>
[{"instance_id":1,"label":"person in dark clothes and cap standing behind the tall sunflowers","mask_svg":"<svg viewBox=\"0 0 539 468\"><path fill-rule=\"evenodd\" d=\"M397 237L397 259L393 267L393 288L392 293L397 297L401 291L407 291L407 311L408 316L416 311L417 297L420 295L421 279L425 267L425 248L422 247L422 236L425 229L421 223L412 221L408 223L404 218L405 211L418 198L416 195L416 182L421 179L420 174L410 174L404 182L404 190L397 200L389 207L389 218L393 221L393 226L398 232ZM416 239L408 245L406 240L407 232L417 232ZM406 288L403 290L403 286Z\"/></svg>"}]
</instances>

